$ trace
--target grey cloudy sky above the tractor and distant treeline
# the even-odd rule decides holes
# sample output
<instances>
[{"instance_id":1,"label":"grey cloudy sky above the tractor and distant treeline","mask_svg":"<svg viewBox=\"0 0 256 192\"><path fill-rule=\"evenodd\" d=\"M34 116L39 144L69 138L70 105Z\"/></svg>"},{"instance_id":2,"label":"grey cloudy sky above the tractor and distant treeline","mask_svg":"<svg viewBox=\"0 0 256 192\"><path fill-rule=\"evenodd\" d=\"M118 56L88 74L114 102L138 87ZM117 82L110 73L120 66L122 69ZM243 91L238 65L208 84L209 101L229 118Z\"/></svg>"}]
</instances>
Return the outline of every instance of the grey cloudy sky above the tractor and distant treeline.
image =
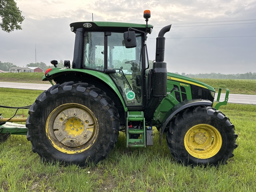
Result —
<instances>
[{"instance_id":1,"label":"grey cloudy sky above the tractor and distant treeline","mask_svg":"<svg viewBox=\"0 0 256 192\"><path fill-rule=\"evenodd\" d=\"M17 66L50 60L72 62L77 21L144 24L151 11L150 60L156 37L165 34L169 72L236 74L256 72L256 0L16 0L25 20L23 30L0 31L0 61ZM36 58L35 58L36 48Z\"/></svg>"}]
</instances>

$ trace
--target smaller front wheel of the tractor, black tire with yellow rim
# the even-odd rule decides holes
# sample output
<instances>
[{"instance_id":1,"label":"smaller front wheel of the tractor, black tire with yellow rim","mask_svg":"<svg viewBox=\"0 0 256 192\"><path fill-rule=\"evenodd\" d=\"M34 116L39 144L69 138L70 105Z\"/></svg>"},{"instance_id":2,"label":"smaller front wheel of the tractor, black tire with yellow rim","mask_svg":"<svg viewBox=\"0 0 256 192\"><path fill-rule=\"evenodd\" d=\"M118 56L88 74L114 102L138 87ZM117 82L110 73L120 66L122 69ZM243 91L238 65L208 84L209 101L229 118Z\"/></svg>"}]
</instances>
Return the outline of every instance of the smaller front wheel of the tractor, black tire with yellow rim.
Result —
<instances>
[{"instance_id":1,"label":"smaller front wheel of the tractor, black tire with yellow rim","mask_svg":"<svg viewBox=\"0 0 256 192\"><path fill-rule=\"evenodd\" d=\"M226 164L237 147L234 129L229 118L215 108L188 108L170 123L168 148L184 165Z\"/></svg>"}]
</instances>

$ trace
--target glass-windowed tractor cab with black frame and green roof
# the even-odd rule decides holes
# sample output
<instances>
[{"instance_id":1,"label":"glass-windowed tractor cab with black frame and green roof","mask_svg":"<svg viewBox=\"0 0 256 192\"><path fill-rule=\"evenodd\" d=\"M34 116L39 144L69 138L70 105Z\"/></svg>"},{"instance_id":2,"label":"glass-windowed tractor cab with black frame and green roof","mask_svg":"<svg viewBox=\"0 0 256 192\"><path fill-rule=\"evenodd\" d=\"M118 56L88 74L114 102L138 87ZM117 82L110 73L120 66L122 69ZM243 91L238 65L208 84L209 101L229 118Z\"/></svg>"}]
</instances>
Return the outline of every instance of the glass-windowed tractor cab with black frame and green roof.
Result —
<instances>
[{"instance_id":1,"label":"glass-windowed tractor cab with black frame and green roof","mask_svg":"<svg viewBox=\"0 0 256 192\"><path fill-rule=\"evenodd\" d=\"M70 26L76 33L78 48L72 68L108 74L127 107L144 106L145 69L149 66L145 40L153 27L113 22L78 22Z\"/></svg>"}]
</instances>

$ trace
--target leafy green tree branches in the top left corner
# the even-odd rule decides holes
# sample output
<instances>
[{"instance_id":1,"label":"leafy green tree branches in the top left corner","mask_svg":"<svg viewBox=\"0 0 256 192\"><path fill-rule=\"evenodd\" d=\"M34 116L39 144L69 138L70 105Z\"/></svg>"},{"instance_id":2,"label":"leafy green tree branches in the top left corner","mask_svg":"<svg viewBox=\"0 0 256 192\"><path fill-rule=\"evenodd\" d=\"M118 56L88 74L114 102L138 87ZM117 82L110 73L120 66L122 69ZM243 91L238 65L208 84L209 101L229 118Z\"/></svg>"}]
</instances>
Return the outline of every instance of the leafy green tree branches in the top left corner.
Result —
<instances>
[{"instance_id":1,"label":"leafy green tree branches in the top left corner","mask_svg":"<svg viewBox=\"0 0 256 192\"><path fill-rule=\"evenodd\" d=\"M22 29L24 16L21 15L15 0L0 0L0 28L5 32Z\"/></svg>"}]
</instances>

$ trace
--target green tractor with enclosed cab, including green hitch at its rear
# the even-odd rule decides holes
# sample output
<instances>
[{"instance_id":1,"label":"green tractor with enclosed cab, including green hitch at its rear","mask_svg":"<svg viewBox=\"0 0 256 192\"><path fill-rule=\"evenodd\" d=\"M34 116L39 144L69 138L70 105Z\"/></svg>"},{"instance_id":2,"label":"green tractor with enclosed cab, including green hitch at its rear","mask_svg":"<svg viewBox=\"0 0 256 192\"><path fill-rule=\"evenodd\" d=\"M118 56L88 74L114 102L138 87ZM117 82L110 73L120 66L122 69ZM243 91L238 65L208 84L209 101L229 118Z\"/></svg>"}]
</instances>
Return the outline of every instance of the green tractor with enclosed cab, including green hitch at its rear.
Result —
<instances>
[{"instance_id":1,"label":"green tractor with enclosed cab, including green hitch at its rear","mask_svg":"<svg viewBox=\"0 0 256 192\"><path fill-rule=\"evenodd\" d=\"M149 68L146 24L77 22L72 68L51 63L43 81L52 87L37 97L29 109L26 127L4 127L4 134L27 134L32 150L45 161L97 164L125 132L127 147L153 145L152 129L166 132L173 158L184 164L226 164L237 147L229 118L212 107L215 88L167 72L162 28L156 38L156 59ZM55 84L53 83L55 82ZM220 99L218 92L217 101ZM11 121L11 120L9 120ZM8 130L8 133L7 133Z\"/></svg>"}]
</instances>

